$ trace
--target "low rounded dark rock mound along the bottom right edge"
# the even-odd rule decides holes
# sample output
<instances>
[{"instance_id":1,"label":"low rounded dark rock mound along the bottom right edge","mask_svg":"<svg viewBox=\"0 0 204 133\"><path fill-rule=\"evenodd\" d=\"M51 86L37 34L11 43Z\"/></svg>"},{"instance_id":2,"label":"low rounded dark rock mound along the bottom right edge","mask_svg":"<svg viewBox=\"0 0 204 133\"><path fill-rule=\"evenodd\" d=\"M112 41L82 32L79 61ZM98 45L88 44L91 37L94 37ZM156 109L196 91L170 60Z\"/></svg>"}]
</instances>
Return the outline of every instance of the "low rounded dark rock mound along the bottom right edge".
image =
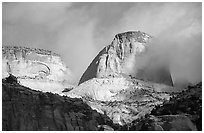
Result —
<instances>
[{"instance_id":1,"label":"low rounded dark rock mound along the bottom right edge","mask_svg":"<svg viewBox=\"0 0 204 133\"><path fill-rule=\"evenodd\" d=\"M129 131L197 131L185 115L146 116L123 127Z\"/></svg>"}]
</instances>

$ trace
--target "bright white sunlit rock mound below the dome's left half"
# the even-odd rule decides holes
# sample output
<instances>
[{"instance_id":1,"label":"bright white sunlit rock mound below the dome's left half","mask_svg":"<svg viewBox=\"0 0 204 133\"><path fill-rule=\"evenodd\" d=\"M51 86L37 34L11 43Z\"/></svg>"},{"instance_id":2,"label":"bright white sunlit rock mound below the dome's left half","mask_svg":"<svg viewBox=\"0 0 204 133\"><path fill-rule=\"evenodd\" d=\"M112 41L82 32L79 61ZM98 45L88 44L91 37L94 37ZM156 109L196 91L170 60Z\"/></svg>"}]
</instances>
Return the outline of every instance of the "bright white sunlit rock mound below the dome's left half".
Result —
<instances>
[{"instance_id":1,"label":"bright white sunlit rock mound below the dome's left half","mask_svg":"<svg viewBox=\"0 0 204 133\"><path fill-rule=\"evenodd\" d=\"M91 98L100 101L111 101L114 95L123 89L127 89L130 83L131 82L122 77L94 78L64 94L73 98Z\"/></svg>"}]
</instances>

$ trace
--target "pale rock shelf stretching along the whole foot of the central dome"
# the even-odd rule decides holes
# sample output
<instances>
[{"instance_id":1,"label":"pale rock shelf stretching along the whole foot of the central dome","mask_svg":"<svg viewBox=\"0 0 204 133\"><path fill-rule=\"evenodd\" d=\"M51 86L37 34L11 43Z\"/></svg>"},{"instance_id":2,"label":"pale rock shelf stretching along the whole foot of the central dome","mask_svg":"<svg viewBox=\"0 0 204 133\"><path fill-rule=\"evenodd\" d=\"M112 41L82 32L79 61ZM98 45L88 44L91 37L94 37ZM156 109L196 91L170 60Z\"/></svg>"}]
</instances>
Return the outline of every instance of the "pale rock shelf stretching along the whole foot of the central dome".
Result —
<instances>
[{"instance_id":1,"label":"pale rock shelf stretching along the whole foot of the central dome","mask_svg":"<svg viewBox=\"0 0 204 133\"><path fill-rule=\"evenodd\" d=\"M131 79L130 77L115 77L115 78L93 78L73 90L64 92L66 96L78 98L91 98L99 101L124 101L133 100L134 92L148 90L150 92L175 92L176 89L171 86L145 82L142 80ZM135 97L137 98L137 97Z\"/></svg>"}]
</instances>

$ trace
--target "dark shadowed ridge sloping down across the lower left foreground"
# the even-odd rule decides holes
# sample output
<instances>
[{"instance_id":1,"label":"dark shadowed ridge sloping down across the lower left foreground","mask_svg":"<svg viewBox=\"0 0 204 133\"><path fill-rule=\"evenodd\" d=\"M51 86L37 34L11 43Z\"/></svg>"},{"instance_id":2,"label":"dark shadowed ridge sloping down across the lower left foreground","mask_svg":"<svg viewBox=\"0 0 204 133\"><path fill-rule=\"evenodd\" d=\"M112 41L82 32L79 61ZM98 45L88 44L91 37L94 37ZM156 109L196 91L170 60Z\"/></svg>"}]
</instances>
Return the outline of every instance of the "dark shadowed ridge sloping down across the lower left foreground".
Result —
<instances>
[{"instance_id":1,"label":"dark shadowed ridge sloping down across the lower left foreground","mask_svg":"<svg viewBox=\"0 0 204 133\"><path fill-rule=\"evenodd\" d=\"M31 90L14 78L3 80L4 131L91 131L113 130L112 127L115 128L107 116L92 110L81 99Z\"/></svg>"}]
</instances>

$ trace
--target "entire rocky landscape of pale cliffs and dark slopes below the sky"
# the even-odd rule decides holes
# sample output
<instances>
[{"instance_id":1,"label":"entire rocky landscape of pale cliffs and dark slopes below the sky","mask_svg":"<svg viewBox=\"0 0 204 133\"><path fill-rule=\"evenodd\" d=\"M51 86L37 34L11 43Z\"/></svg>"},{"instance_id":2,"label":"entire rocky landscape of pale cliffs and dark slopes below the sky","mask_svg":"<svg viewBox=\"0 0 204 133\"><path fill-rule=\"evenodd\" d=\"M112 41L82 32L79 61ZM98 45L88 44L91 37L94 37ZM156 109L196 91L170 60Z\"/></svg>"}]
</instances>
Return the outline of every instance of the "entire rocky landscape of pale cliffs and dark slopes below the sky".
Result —
<instances>
[{"instance_id":1,"label":"entire rocky landscape of pale cliffs and dark slopes below the sky","mask_svg":"<svg viewBox=\"0 0 204 133\"><path fill-rule=\"evenodd\" d=\"M202 83L178 92L168 63L154 56L141 65L151 38L117 34L74 89L58 55L3 47L3 130L202 130Z\"/></svg>"}]
</instances>

